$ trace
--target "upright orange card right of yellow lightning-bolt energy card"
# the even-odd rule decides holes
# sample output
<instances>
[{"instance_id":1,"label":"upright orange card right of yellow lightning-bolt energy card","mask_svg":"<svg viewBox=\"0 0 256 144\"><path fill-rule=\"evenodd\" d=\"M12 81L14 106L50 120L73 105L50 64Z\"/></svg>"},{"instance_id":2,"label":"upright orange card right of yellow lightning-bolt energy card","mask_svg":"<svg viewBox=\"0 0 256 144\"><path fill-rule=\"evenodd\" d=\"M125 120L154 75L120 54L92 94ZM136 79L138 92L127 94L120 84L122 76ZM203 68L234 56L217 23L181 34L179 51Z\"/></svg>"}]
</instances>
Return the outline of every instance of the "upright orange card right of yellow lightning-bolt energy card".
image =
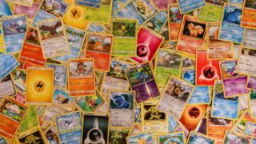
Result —
<instances>
[{"instance_id":1,"label":"upright orange card right of yellow lightning-bolt energy card","mask_svg":"<svg viewBox=\"0 0 256 144\"><path fill-rule=\"evenodd\" d=\"M95 95L94 59L68 60L70 97Z\"/></svg>"}]
</instances>

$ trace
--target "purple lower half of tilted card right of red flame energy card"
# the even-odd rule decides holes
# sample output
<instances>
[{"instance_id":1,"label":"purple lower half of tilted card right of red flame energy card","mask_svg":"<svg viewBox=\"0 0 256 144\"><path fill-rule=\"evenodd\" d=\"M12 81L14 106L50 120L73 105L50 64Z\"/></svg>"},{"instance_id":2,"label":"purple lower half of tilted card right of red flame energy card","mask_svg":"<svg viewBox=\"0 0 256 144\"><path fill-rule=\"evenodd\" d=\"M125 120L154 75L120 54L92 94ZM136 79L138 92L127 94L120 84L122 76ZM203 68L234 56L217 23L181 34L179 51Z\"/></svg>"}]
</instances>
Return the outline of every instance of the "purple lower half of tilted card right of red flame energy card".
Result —
<instances>
[{"instance_id":1,"label":"purple lower half of tilted card right of red flame energy card","mask_svg":"<svg viewBox=\"0 0 256 144\"><path fill-rule=\"evenodd\" d=\"M246 88L247 76L239 78L229 78L223 80L223 89L225 98L249 94L250 90Z\"/></svg>"}]
</instances>

